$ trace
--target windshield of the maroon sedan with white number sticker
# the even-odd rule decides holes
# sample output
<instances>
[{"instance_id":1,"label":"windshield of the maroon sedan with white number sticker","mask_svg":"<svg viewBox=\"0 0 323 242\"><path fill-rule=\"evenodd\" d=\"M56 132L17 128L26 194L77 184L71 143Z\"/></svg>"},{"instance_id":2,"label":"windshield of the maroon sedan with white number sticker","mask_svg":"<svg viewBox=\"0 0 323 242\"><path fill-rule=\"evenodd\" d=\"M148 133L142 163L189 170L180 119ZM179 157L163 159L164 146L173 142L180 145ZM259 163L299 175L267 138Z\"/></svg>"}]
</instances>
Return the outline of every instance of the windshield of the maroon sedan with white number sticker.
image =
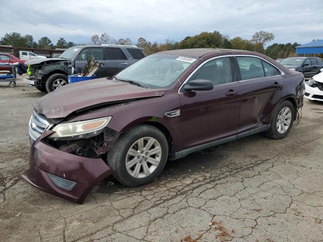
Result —
<instances>
[{"instance_id":1,"label":"windshield of the maroon sedan with white number sticker","mask_svg":"<svg viewBox=\"0 0 323 242\"><path fill-rule=\"evenodd\" d=\"M170 88L196 58L171 54L153 54L134 63L115 77L134 81L148 88Z\"/></svg>"}]
</instances>

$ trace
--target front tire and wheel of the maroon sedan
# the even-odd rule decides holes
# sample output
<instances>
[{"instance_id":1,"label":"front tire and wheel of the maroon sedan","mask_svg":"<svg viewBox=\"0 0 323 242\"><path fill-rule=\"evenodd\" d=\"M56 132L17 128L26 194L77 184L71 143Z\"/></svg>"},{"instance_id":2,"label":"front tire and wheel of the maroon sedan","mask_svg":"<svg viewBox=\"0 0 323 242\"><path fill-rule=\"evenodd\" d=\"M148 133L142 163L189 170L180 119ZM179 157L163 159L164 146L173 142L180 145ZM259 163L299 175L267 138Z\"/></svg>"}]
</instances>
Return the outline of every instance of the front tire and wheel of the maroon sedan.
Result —
<instances>
[{"instance_id":1,"label":"front tire and wheel of the maroon sedan","mask_svg":"<svg viewBox=\"0 0 323 242\"><path fill-rule=\"evenodd\" d=\"M150 125L139 125L121 135L107 153L107 165L116 170L115 177L127 187L153 181L163 171L168 158L165 135Z\"/></svg>"}]
</instances>

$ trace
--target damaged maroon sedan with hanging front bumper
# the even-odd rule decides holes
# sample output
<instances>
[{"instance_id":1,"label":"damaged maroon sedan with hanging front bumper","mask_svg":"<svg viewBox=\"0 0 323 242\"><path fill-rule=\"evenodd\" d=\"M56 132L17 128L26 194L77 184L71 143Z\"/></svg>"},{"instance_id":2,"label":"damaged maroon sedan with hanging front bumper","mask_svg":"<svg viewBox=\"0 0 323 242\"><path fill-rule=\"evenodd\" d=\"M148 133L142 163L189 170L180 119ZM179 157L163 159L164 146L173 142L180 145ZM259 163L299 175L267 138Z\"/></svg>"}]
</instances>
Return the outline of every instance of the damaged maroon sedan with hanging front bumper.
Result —
<instances>
[{"instance_id":1,"label":"damaged maroon sedan with hanging front bumper","mask_svg":"<svg viewBox=\"0 0 323 242\"><path fill-rule=\"evenodd\" d=\"M141 186L169 159L260 132L284 138L303 94L301 73L256 52L152 54L113 78L66 85L39 99L23 177L78 203L111 174Z\"/></svg>"}]
</instances>

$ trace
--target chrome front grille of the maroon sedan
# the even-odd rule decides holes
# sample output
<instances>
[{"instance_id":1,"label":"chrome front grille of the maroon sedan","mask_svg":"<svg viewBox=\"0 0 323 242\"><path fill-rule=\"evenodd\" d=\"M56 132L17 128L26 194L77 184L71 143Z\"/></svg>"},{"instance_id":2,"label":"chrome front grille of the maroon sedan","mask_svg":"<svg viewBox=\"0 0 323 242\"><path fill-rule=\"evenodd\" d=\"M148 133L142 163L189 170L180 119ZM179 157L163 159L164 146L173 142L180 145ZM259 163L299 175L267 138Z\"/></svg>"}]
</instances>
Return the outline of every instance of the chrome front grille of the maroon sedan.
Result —
<instances>
[{"instance_id":1,"label":"chrome front grille of the maroon sedan","mask_svg":"<svg viewBox=\"0 0 323 242\"><path fill-rule=\"evenodd\" d=\"M34 110L30 117L29 129L28 129L29 137L32 139L32 141L35 141L49 127L50 127L50 124L47 118L45 118L43 115L38 114Z\"/></svg>"}]
</instances>

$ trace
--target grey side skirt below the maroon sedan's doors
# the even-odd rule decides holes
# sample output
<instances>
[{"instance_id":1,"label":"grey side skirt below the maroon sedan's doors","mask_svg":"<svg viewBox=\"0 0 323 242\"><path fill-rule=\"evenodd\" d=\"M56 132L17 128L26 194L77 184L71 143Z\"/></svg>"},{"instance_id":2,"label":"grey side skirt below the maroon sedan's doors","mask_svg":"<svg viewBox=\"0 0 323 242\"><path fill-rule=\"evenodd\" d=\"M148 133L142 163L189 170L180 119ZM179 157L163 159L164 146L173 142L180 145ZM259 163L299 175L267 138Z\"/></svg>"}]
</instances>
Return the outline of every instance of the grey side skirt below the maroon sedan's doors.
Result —
<instances>
[{"instance_id":1,"label":"grey side skirt below the maroon sedan's doors","mask_svg":"<svg viewBox=\"0 0 323 242\"><path fill-rule=\"evenodd\" d=\"M213 142L210 142L207 144L203 144L203 145L195 146L195 147L192 147L192 148L189 148L186 150L182 150L182 151L176 152L175 156L171 157L170 160L177 160L177 159L183 158L184 156L187 156L188 154L193 153L195 151L204 150L204 149L207 149L207 148L210 148L213 146L222 145L222 144L228 143L230 141L234 141L234 140L241 139L241 138L244 138L244 137L247 137L250 135L261 133L261 132L267 131L269 128L270 128L270 125L264 125L259 128L249 130L247 132L244 132L244 133L241 133L238 135L234 135L234 136L231 136L228 138L224 138L221 140L213 141Z\"/></svg>"}]
</instances>

